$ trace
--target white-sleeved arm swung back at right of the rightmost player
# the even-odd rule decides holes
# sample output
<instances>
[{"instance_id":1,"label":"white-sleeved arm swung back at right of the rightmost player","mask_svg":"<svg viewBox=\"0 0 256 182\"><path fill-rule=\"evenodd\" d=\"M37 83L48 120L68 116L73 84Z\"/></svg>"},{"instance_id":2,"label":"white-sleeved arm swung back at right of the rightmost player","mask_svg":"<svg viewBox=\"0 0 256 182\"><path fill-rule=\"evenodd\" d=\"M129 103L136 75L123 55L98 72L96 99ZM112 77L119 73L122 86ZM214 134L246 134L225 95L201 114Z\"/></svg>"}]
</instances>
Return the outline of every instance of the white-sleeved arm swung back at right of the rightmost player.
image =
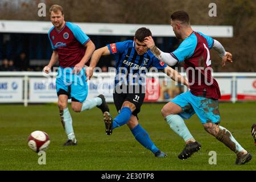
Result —
<instances>
[{"instance_id":1,"label":"white-sleeved arm swung back at right of the rightmost player","mask_svg":"<svg viewBox=\"0 0 256 182\"><path fill-rule=\"evenodd\" d=\"M213 48L218 52L218 55L222 59L222 67L226 65L226 61L233 63L232 54L230 52L226 52L225 48L220 42L218 42L218 40L214 39Z\"/></svg>"}]
</instances>

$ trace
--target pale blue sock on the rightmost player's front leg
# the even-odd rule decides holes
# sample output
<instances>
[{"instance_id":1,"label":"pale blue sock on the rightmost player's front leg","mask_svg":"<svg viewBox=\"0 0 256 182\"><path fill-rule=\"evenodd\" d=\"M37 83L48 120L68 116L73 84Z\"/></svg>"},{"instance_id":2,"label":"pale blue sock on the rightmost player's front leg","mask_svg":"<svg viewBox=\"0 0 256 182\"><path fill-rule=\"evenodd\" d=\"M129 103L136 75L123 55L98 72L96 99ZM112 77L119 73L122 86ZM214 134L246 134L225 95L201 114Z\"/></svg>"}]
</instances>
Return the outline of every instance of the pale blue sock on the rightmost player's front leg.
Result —
<instances>
[{"instance_id":1,"label":"pale blue sock on the rightmost player's front leg","mask_svg":"<svg viewBox=\"0 0 256 182\"><path fill-rule=\"evenodd\" d=\"M166 117L166 122L170 125L171 129L174 130L174 132L182 137L185 141L193 139L180 115L170 114Z\"/></svg>"}]
</instances>

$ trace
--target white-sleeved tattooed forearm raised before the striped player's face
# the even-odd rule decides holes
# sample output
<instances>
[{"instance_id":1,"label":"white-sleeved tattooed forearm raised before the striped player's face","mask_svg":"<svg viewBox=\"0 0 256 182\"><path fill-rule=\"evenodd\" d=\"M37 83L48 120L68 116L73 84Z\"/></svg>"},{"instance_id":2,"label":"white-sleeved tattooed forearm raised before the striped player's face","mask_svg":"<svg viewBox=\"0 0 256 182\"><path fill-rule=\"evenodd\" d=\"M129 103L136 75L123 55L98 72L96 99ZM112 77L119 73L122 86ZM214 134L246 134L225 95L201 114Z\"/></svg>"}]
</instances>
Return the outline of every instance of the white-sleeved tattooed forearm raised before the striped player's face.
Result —
<instances>
[{"instance_id":1,"label":"white-sleeved tattooed forearm raised before the striped player's face","mask_svg":"<svg viewBox=\"0 0 256 182\"><path fill-rule=\"evenodd\" d=\"M155 46L154 39L151 36L146 37L143 43L146 44L147 47L150 48L150 51L155 55L155 57L157 57L163 63L166 63L170 66L177 64L177 60L172 57L170 53L163 52Z\"/></svg>"}]
</instances>

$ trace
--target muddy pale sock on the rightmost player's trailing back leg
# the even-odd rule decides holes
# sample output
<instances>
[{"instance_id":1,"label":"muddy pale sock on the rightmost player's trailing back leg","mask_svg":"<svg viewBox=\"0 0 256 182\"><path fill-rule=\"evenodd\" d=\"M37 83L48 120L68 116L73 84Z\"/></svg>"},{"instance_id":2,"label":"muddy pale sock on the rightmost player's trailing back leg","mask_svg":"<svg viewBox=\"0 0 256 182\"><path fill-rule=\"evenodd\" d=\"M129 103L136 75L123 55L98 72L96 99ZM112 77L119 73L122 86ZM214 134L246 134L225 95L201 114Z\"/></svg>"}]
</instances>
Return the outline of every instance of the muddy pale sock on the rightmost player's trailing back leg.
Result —
<instances>
[{"instance_id":1,"label":"muddy pale sock on the rightmost player's trailing back leg","mask_svg":"<svg viewBox=\"0 0 256 182\"><path fill-rule=\"evenodd\" d=\"M220 140L222 143L224 143L226 146L228 146L232 151L236 152L236 154L237 154L238 152L241 152L242 150L245 150L245 149L237 142L237 140L234 139L233 135L230 133L229 130L225 129L225 127L222 127L222 126L220 126L220 125L219 125L219 128L220 128L220 130L223 131L223 133L225 133L226 136L229 137L230 140L232 140L232 142L233 142L234 144L236 144L236 147L233 148L232 146L230 146L230 142L225 142L224 135L221 136L222 138L217 138L217 137L216 137L218 140ZM220 132L220 131L219 131L219 132Z\"/></svg>"}]
</instances>

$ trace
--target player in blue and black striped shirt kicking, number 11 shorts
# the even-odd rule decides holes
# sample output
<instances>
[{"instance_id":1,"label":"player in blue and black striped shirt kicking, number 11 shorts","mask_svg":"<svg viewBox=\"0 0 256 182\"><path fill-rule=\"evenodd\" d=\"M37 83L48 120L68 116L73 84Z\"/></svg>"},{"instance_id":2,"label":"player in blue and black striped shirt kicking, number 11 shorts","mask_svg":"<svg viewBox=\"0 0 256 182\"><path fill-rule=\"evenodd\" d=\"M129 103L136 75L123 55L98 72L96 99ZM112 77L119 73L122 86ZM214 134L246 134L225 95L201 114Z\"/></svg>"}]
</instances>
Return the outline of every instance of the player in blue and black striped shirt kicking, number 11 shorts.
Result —
<instances>
[{"instance_id":1,"label":"player in blue and black striped shirt kicking, number 11 shorts","mask_svg":"<svg viewBox=\"0 0 256 182\"><path fill-rule=\"evenodd\" d=\"M174 69L159 61L143 43L144 38L151 36L147 28L139 28L135 32L134 40L127 40L97 49L92 55L90 67L86 69L86 76L92 77L93 69L96 67L101 56L115 55L115 89L113 93L114 104L118 115L112 119L109 113L104 115L106 134L111 135L112 130L127 124L134 137L142 146L149 149L156 157L165 157L166 154L160 151L152 142L141 125L138 123L137 114L141 110L145 97L146 75L149 68L164 71L172 80L184 82L187 80L179 75Z\"/></svg>"}]
</instances>

